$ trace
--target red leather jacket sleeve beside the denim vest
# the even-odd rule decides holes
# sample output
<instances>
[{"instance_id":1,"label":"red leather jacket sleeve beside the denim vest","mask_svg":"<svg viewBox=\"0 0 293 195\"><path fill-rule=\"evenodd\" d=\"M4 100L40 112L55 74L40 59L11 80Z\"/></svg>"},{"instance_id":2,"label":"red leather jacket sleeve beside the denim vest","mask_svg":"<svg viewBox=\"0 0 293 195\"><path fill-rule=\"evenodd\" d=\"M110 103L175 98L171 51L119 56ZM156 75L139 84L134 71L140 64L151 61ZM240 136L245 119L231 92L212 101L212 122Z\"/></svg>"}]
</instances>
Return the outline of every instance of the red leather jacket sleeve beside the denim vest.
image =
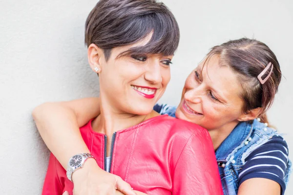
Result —
<instances>
[{"instance_id":1,"label":"red leather jacket sleeve beside the denim vest","mask_svg":"<svg viewBox=\"0 0 293 195\"><path fill-rule=\"evenodd\" d=\"M223 195L209 132L194 124L181 124L183 137L173 147L173 195ZM184 144L184 145L183 145ZM177 159L175 161L175 159Z\"/></svg>"}]
</instances>

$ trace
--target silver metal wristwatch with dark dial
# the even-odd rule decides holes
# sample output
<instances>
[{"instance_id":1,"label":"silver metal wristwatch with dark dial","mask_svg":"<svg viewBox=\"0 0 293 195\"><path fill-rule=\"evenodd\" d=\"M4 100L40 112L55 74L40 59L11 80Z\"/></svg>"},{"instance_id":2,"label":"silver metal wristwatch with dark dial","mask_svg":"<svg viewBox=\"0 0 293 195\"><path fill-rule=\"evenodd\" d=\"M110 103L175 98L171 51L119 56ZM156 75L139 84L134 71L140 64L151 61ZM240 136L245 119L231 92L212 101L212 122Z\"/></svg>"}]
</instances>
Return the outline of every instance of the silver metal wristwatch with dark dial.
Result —
<instances>
[{"instance_id":1,"label":"silver metal wristwatch with dark dial","mask_svg":"<svg viewBox=\"0 0 293 195\"><path fill-rule=\"evenodd\" d=\"M96 159L94 156L92 156L89 153L82 153L82 154L77 154L72 156L69 159L68 165L67 165L67 171L66 171L66 176L67 178L72 181L72 174L78 170L83 168L84 166L84 162L88 159L88 158L94 158Z\"/></svg>"}]
</instances>

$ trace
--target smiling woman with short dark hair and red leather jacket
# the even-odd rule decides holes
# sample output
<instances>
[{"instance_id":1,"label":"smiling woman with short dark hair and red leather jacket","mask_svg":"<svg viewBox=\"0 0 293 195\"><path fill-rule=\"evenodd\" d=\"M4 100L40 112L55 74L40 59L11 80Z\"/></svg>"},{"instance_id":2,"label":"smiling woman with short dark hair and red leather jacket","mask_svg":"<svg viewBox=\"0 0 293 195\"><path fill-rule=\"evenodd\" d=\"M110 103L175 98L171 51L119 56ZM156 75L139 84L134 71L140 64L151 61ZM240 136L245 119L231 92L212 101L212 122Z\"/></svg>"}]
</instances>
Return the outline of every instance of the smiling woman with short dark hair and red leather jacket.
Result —
<instances>
[{"instance_id":1,"label":"smiling woman with short dark hair and red leather jacket","mask_svg":"<svg viewBox=\"0 0 293 195\"><path fill-rule=\"evenodd\" d=\"M67 171L57 160L62 155L50 156L42 194L72 195L73 189L101 194L95 180L83 183L94 171L88 163L96 161L137 194L221 195L208 131L153 111L170 80L179 42L178 24L167 7L154 0L100 0L86 20L85 42L89 65L99 75L101 112L80 129L86 146L71 151ZM79 175L83 170L90 174ZM111 193L118 192L113 187Z\"/></svg>"}]
</instances>

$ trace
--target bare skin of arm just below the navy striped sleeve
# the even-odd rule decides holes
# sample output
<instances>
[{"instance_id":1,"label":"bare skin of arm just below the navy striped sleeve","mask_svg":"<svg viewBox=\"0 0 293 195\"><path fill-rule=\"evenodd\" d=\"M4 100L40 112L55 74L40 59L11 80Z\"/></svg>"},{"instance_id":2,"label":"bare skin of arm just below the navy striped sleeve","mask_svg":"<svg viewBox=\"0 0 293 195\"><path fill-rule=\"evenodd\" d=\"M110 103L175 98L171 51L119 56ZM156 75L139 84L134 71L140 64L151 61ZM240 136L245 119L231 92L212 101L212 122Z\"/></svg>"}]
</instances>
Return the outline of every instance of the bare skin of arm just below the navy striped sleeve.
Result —
<instances>
[{"instance_id":1,"label":"bare skin of arm just below the navy striped sleeve","mask_svg":"<svg viewBox=\"0 0 293 195\"><path fill-rule=\"evenodd\" d=\"M266 178L245 180L239 187L237 195L280 195L280 185Z\"/></svg>"}]
</instances>

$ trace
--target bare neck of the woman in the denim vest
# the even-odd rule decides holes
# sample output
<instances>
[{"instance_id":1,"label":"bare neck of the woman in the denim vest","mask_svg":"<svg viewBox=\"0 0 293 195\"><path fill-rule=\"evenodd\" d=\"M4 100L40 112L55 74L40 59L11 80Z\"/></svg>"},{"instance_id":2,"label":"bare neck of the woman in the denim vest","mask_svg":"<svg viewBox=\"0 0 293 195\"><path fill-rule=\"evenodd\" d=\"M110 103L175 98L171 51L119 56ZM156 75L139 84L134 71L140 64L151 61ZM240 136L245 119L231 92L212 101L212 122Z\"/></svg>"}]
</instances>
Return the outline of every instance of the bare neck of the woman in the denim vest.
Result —
<instances>
[{"instance_id":1,"label":"bare neck of the woman in the denim vest","mask_svg":"<svg viewBox=\"0 0 293 195\"><path fill-rule=\"evenodd\" d=\"M233 131L239 121L231 121L228 124L225 124L217 129L209 130L209 135L212 140L212 144L214 150L216 151L221 143L229 136L229 134Z\"/></svg>"}]
</instances>

